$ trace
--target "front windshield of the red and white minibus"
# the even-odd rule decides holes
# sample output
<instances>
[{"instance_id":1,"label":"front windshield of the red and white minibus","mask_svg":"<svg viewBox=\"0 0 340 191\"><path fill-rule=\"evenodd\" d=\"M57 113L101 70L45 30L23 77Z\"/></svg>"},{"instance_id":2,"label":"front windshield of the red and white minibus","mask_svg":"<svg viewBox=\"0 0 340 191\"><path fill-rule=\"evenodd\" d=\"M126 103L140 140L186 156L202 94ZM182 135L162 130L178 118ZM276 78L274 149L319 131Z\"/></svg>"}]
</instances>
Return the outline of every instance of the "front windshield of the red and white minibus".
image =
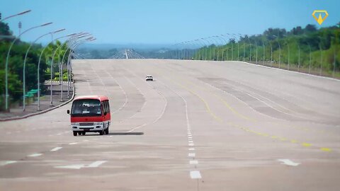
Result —
<instances>
[{"instance_id":1,"label":"front windshield of the red and white minibus","mask_svg":"<svg viewBox=\"0 0 340 191\"><path fill-rule=\"evenodd\" d=\"M81 116L101 116L101 102L99 100L74 100L71 115Z\"/></svg>"}]
</instances>

